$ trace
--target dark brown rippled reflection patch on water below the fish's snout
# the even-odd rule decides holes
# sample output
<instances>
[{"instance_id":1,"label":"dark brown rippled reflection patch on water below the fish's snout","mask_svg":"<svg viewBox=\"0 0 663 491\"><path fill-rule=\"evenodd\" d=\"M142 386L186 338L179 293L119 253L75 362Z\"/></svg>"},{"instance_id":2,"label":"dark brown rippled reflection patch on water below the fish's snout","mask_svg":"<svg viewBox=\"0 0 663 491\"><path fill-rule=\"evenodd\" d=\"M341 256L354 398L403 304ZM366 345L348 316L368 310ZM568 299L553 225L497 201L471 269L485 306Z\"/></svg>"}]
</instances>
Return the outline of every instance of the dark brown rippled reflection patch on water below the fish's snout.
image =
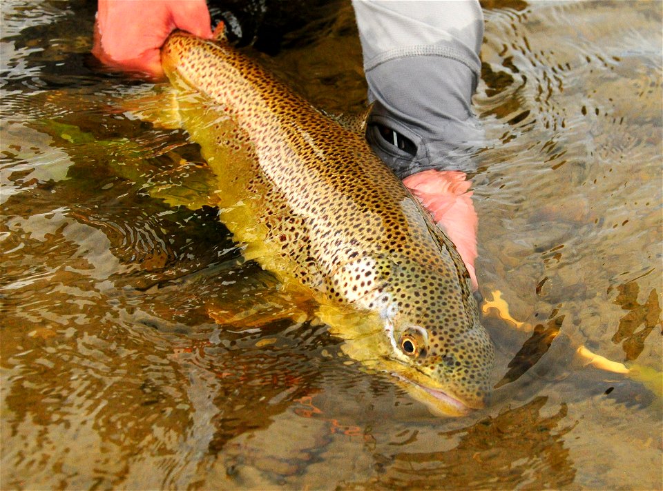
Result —
<instances>
[{"instance_id":1,"label":"dark brown rippled reflection patch on water below the fish's snout","mask_svg":"<svg viewBox=\"0 0 663 491\"><path fill-rule=\"evenodd\" d=\"M448 448L398 452L381 456L388 465L363 488L560 488L573 483L575 468L564 449L564 435L573 423L563 404L555 414L541 416L545 397L520 408L506 410L494 419L479 421L467 430L445 434ZM418 430L406 435L417 437ZM407 442L406 442L407 443ZM429 447L430 448L430 447ZM490 464L488 464L490 462ZM468 465L472 463L472 465ZM347 486L358 488L357 483Z\"/></svg>"}]
</instances>

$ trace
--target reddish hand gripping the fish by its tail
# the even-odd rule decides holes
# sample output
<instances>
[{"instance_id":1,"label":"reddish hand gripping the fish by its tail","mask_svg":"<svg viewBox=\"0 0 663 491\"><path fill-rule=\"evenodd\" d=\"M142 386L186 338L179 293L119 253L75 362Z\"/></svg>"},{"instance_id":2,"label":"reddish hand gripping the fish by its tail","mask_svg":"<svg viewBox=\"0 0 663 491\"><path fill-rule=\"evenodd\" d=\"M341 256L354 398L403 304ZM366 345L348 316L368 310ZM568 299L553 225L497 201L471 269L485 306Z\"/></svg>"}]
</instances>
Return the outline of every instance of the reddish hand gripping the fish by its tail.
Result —
<instances>
[{"instance_id":1,"label":"reddish hand gripping the fish by its tail","mask_svg":"<svg viewBox=\"0 0 663 491\"><path fill-rule=\"evenodd\" d=\"M205 0L99 0L92 53L113 68L160 78L160 48L175 29L211 39Z\"/></svg>"}]
</instances>

